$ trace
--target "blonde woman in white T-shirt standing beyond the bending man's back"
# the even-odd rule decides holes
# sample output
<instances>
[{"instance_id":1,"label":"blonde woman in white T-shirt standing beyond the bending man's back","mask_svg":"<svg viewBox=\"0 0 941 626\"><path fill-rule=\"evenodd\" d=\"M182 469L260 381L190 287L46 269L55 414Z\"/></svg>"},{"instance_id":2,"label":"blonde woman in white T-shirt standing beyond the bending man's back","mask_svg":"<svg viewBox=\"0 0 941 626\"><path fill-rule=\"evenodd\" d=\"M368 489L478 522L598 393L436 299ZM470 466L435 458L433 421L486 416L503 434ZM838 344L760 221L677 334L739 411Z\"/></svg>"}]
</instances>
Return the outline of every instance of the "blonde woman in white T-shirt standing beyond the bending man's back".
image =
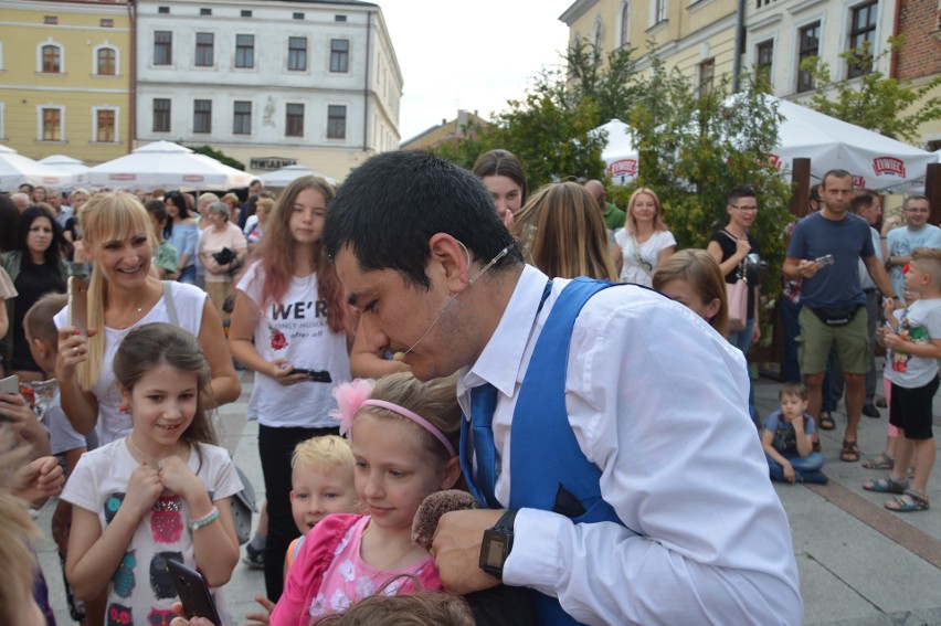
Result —
<instances>
[{"instance_id":1,"label":"blonde woman in white T-shirt standing beyond the bending man's back","mask_svg":"<svg viewBox=\"0 0 941 626\"><path fill-rule=\"evenodd\" d=\"M676 252L676 238L663 221L660 199L653 189L642 187L627 202L624 227L614 233L624 263L621 280L651 286L657 265Z\"/></svg>"}]
</instances>

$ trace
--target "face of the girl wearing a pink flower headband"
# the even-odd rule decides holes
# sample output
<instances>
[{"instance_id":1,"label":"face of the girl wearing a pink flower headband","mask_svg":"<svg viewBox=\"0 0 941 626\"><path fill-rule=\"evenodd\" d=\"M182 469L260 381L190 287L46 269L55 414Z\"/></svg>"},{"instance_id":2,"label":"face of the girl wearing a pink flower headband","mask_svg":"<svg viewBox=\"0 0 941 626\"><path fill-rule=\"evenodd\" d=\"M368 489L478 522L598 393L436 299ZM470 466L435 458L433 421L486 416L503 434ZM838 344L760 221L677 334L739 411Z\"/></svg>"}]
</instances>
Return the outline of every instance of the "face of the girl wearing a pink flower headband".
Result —
<instances>
[{"instance_id":1,"label":"face of the girl wearing a pink flower headband","mask_svg":"<svg viewBox=\"0 0 941 626\"><path fill-rule=\"evenodd\" d=\"M426 496L450 489L457 476L421 449L415 429L403 420L361 411L352 426L356 491L380 528L410 531Z\"/></svg>"}]
</instances>

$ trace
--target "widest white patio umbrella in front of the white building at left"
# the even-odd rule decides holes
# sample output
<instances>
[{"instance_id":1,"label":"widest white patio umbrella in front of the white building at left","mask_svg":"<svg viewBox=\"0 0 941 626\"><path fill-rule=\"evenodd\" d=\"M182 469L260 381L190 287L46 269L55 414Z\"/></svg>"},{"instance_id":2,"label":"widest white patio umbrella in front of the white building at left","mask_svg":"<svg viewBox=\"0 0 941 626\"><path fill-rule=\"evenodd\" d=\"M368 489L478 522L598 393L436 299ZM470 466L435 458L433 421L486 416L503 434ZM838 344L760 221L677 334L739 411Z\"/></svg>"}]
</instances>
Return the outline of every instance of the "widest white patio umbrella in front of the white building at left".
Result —
<instances>
[{"instance_id":1,"label":"widest white patio umbrella in front of the white building at left","mask_svg":"<svg viewBox=\"0 0 941 626\"><path fill-rule=\"evenodd\" d=\"M155 141L95 166L88 180L110 189L232 189L252 177L172 141Z\"/></svg>"}]
</instances>

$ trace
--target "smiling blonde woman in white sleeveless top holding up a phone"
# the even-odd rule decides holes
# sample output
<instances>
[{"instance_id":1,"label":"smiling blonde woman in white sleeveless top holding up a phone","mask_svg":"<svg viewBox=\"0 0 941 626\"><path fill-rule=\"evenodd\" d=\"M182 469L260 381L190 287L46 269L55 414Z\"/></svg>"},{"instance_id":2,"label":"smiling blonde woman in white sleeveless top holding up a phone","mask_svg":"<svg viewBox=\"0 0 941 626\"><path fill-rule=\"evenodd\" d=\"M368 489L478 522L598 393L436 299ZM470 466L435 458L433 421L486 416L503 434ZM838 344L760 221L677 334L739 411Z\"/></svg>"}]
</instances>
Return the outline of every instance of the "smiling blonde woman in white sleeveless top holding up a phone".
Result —
<instances>
[{"instance_id":1,"label":"smiling blonde woman in white sleeveless top holding up a phone","mask_svg":"<svg viewBox=\"0 0 941 626\"><path fill-rule=\"evenodd\" d=\"M124 192L98 193L85 205L82 223L82 244L93 267L87 330L72 326L70 307L55 316L56 378L73 427L83 434L96 428L103 445L130 434L130 415L123 411L112 363L121 339L152 321L169 321L198 338L212 371L207 406L237 399L242 388L222 322L205 293L161 282L150 272L152 225L140 201Z\"/></svg>"}]
</instances>

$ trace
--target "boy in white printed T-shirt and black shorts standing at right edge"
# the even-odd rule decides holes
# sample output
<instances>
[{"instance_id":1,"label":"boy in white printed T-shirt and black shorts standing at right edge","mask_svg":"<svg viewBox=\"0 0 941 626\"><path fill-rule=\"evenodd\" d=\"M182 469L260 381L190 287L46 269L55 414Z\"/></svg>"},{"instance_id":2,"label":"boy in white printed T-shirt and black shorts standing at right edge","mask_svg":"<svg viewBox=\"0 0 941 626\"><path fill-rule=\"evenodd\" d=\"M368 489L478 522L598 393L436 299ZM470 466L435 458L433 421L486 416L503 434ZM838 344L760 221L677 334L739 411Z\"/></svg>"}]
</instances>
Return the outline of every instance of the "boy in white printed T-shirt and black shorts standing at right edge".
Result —
<instances>
[{"instance_id":1,"label":"boy in white printed T-shirt and black shorts standing at right edge","mask_svg":"<svg viewBox=\"0 0 941 626\"><path fill-rule=\"evenodd\" d=\"M899 494L885 507L900 513L929 508L928 478L935 454L931 404L941 359L941 250L916 248L905 286L918 294L918 300L906 307L895 331L879 330L879 340L889 349L886 371L891 381L889 423L898 428L896 461L885 478L863 485L868 491ZM914 478L909 486L912 459Z\"/></svg>"}]
</instances>

